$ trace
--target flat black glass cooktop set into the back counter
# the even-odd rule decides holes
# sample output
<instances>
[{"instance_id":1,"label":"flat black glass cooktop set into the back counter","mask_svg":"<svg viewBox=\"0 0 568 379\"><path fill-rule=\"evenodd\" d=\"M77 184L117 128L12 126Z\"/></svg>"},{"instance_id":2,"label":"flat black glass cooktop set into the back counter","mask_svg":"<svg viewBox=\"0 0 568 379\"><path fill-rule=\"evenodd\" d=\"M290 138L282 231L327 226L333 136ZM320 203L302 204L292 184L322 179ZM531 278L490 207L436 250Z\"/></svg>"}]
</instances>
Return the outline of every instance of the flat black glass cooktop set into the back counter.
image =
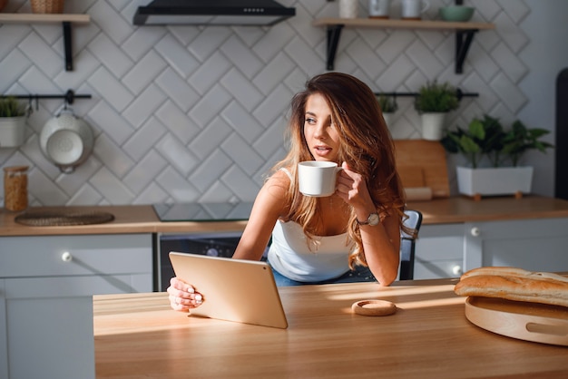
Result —
<instances>
[{"instance_id":1,"label":"flat black glass cooktop set into the back counter","mask_svg":"<svg viewBox=\"0 0 568 379\"><path fill-rule=\"evenodd\" d=\"M239 221L249 219L252 202L153 204L161 221Z\"/></svg>"}]
</instances>

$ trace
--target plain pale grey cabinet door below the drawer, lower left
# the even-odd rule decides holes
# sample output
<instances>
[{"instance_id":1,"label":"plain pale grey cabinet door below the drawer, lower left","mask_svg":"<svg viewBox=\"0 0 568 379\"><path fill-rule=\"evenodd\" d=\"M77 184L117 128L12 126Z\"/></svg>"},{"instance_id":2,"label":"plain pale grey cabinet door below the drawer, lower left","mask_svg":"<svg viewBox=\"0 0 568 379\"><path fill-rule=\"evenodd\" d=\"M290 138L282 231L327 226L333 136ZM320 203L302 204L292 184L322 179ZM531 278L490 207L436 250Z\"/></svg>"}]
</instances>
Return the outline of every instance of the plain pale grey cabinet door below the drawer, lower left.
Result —
<instances>
[{"instance_id":1,"label":"plain pale grey cabinet door below the drawer, lower left","mask_svg":"<svg viewBox=\"0 0 568 379\"><path fill-rule=\"evenodd\" d=\"M10 375L3 378L94 378L93 297L74 295L61 280L4 280Z\"/></svg>"}]
</instances>

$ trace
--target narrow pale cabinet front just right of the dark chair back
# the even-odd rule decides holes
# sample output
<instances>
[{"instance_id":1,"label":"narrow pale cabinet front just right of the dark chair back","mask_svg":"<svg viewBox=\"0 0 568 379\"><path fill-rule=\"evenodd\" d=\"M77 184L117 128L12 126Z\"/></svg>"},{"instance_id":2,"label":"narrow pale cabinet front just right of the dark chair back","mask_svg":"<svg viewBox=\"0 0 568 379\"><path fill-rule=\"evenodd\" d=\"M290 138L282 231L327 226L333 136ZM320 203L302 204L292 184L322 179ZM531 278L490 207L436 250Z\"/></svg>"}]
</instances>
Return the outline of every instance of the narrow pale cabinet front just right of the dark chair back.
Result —
<instances>
[{"instance_id":1,"label":"narrow pale cabinet front just right of the dark chair back","mask_svg":"<svg viewBox=\"0 0 568 379\"><path fill-rule=\"evenodd\" d=\"M464 265L464 225L423 225L416 239L415 279L459 277Z\"/></svg>"}]
</instances>

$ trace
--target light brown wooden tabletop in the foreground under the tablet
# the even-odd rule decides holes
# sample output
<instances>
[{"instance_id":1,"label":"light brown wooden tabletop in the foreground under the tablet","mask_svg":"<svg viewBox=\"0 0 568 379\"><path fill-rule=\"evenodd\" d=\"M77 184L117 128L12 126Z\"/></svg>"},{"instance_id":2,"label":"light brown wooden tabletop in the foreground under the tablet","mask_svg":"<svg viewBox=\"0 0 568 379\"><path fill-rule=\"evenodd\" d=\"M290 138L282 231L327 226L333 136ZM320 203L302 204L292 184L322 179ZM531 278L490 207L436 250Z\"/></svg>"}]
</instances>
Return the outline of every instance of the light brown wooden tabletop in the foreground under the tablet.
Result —
<instances>
[{"instance_id":1,"label":"light brown wooden tabletop in the foreground under the tablet","mask_svg":"<svg viewBox=\"0 0 568 379\"><path fill-rule=\"evenodd\" d=\"M187 316L164 293L94 296L97 378L568 377L568 348L470 324L454 284L281 287L285 330ZM397 313L351 313L373 298Z\"/></svg>"}]
</instances>

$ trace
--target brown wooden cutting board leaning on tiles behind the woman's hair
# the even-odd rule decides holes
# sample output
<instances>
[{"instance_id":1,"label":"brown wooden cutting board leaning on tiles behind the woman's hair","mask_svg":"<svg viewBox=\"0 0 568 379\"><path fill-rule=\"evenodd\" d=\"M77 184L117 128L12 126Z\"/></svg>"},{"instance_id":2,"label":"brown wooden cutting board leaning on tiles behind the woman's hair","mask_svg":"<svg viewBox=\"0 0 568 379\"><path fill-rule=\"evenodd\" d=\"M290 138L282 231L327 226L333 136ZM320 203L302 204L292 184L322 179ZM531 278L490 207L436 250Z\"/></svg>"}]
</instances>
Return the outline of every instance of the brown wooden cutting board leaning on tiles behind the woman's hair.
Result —
<instances>
[{"instance_id":1,"label":"brown wooden cutting board leaning on tiles behind the woman's hair","mask_svg":"<svg viewBox=\"0 0 568 379\"><path fill-rule=\"evenodd\" d=\"M446 150L438 141L395 140L397 171L406 190L429 189L432 198L449 198Z\"/></svg>"}]
</instances>

